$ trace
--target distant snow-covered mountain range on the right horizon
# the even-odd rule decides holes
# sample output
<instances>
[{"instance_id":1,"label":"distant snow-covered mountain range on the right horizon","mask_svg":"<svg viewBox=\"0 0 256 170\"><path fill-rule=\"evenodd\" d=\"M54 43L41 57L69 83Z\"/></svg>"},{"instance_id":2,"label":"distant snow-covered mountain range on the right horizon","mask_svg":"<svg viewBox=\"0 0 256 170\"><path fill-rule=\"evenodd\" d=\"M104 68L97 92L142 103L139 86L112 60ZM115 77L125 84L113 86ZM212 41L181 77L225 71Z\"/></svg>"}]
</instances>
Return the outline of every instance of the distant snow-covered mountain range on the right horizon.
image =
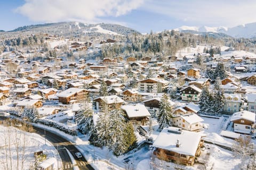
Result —
<instances>
[{"instance_id":1,"label":"distant snow-covered mountain range on the right horizon","mask_svg":"<svg viewBox=\"0 0 256 170\"><path fill-rule=\"evenodd\" d=\"M253 38L256 37L256 22L248 23L244 25L238 25L236 27L226 28L226 27L189 27L182 26L174 29L175 31L196 31L196 32L214 32L214 33L225 33L231 37L239 38Z\"/></svg>"}]
</instances>

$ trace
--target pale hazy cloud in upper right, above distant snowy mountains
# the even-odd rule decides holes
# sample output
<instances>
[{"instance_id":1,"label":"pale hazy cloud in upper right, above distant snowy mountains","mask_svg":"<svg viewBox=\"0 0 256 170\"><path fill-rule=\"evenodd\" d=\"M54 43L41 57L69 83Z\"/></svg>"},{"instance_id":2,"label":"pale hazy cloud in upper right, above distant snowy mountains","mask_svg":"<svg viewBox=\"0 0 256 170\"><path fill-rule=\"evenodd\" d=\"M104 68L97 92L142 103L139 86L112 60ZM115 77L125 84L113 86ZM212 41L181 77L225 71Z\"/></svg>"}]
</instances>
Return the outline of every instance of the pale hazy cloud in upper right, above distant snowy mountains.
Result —
<instances>
[{"instance_id":1,"label":"pale hazy cloud in upper right, above distant snowy mountains","mask_svg":"<svg viewBox=\"0 0 256 170\"><path fill-rule=\"evenodd\" d=\"M256 22L255 6L255 0L148 0L143 8L187 24L231 27Z\"/></svg>"}]
</instances>

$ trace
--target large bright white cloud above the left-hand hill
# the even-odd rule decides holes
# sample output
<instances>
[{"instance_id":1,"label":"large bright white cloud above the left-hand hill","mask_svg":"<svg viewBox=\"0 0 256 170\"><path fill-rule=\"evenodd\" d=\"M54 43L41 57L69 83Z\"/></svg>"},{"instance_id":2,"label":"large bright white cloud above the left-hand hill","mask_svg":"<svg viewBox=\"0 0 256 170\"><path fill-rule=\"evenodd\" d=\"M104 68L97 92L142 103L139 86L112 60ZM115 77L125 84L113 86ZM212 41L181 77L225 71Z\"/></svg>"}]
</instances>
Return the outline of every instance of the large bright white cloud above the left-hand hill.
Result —
<instances>
[{"instance_id":1,"label":"large bright white cloud above the left-hand hill","mask_svg":"<svg viewBox=\"0 0 256 170\"><path fill-rule=\"evenodd\" d=\"M26 0L15 9L31 21L99 21L100 17L121 16L140 7L144 0Z\"/></svg>"}]
</instances>

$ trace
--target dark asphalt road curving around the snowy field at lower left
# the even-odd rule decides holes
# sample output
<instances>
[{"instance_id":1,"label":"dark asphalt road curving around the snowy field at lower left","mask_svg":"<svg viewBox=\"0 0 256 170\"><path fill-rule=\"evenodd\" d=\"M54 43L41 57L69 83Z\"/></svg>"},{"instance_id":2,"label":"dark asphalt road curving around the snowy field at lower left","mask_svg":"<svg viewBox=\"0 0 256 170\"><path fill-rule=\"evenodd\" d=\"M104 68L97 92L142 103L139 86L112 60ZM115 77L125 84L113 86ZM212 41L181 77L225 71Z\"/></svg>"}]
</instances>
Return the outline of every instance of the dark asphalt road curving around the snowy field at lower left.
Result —
<instances>
[{"instance_id":1,"label":"dark asphalt road curving around the snowy field at lower left","mask_svg":"<svg viewBox=\"0 0 256 170\"><path fill-rule=\"evenodd\" d=\"M0 120L4 120L4 119L5 117L0 116ZM35 126L33 127L33 129L35 130L35 133L44 137L44 129L37 128ZM46 130L45 133L46 133L46 139L50 141L52 145L58 150L59 155L61 157L61 160L58 160L58 161L62 161L62 167L59 167L59 169L71 170L73 169L73 166L77 166L81 170L93 170L92 166L87 163L84 157L80 159L76 158L75 153L79 152L79 150L71 142L50 131ZM71 155L76 160L76 165L72 165L71 159L65 148L69 150Z\"/></svg>"}]
</instances>

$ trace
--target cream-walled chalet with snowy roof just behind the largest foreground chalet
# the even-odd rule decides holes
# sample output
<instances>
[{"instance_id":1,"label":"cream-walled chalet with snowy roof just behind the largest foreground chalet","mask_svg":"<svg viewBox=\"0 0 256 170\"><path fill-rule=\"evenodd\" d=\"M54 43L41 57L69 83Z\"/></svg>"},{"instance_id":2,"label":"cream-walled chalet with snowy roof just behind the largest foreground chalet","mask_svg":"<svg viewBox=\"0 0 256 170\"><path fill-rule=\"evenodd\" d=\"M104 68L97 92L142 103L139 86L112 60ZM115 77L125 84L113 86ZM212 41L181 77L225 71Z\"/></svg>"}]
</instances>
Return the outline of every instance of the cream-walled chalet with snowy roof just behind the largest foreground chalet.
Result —
<instances>
[{"instance_id":1,"label":"cream-walled chalet with snowy roof just behind the largest foreground chalet","mask_svg":"<svg viewBox=\"0 0 256 170\"><path fill-rule=\"evenodd\" d=\"M173 116L173 126L177 126L187 131L198 131L202 128L201 122L204 120L196 114L185 114L180 116Z\"/></svg>"}]
</instances>

